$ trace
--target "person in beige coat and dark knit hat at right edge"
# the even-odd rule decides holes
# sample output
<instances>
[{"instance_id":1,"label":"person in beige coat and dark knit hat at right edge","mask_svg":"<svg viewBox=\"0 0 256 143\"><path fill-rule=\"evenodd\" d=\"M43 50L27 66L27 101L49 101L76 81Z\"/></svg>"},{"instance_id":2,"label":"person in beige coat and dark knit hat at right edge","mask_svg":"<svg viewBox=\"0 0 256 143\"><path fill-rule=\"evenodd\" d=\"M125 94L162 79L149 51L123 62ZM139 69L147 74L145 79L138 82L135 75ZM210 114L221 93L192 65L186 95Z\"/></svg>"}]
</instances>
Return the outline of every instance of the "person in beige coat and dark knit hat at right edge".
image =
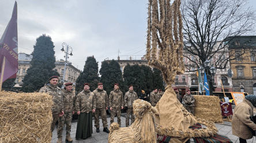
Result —
<instances>
[{"instance_id":1,"label":"person in beige coat and dark knit hat at right edge","mask_svg":"<svg viewBox=\"0 0 256 143\"><path fill-rule=\"evenodd\" d=\"M256 124L251 121L253 109L256 107L256 96L247 95L243 102L236 105L232 117L232 134L239 137L240 142L246 142L253 138L253 133L256 130ZM254 131L253 131L254 130Z\"/></svg>"}]
</instances>

